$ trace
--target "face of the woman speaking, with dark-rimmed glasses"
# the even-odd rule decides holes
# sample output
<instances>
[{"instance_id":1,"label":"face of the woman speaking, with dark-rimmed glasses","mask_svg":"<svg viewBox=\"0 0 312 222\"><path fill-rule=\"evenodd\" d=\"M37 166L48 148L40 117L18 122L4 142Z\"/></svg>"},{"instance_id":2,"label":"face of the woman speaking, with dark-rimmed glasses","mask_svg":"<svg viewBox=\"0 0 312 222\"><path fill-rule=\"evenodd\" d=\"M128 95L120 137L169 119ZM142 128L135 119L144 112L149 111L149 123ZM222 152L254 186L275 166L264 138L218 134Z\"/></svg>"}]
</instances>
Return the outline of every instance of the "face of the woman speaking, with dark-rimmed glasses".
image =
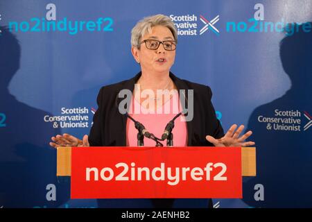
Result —
<instances>
[{"instance_id":1,"label":"face of the woman speaking, with dark-rimmed glasses","mask_svg":"<svg viewBox=\"0 0 312 222\"><path fill-rule=\"evenodd\" d=\"M169 28L165 26L154 26L151 33L147 33L141 38L141 42L144 40L171 40L174 41L174 37ZM141 48L137 49L132 47L132 54L135 60L140 63L141 71L150 73L168 73L171 69L173 62L175 62L175 50L166 51L163 44L159 44L158 49L151 50L146 48L146 44L143 42Z\"/></svg>"}]
</instances>

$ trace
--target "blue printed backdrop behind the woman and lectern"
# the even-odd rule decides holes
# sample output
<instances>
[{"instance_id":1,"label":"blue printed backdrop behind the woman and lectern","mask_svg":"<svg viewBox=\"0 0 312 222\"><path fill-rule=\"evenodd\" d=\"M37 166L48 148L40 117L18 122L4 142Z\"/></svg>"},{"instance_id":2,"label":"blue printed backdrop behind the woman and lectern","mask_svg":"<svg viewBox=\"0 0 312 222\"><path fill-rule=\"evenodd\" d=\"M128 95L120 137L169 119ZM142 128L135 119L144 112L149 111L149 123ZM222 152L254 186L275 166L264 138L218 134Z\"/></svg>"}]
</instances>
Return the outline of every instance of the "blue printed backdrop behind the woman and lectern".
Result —
<instances>
[{"instance_id":1,"label":"blue printed backdrop behind the woman and lectern","mask_svg":"<svg viewBox=\"0 0 312 222\"><path fill-rule=\"evenodd\" d=\"M173 73L211 87L225 130L254 131L257 177L214 206L312 207L310 0L1 0L0 207L97 207L69 199L50 138L89 133L100 87L139 71L132 27L158 13L179 28Z\"/></svg>"}]
</instances>

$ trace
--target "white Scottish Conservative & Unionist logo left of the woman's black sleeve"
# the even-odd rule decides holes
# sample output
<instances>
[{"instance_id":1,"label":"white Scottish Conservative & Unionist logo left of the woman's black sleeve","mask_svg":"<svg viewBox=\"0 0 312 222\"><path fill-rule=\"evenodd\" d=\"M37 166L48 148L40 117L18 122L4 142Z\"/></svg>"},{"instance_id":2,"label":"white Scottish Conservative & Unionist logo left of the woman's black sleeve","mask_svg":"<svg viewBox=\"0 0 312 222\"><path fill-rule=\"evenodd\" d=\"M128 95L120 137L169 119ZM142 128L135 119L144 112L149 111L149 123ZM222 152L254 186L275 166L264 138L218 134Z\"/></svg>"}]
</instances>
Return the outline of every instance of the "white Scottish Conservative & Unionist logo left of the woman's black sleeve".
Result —
<instances>
[{"instance_id":1,"label":"white Scottish Conservative & Unionist logo left of the woman's black sleeve","mask_svg":"<svg viewBox=\"0 0 312 222\"><path fill-rule=\"evenodd\" d=\"M94 114L95 109L91 108ZM60 115L44 116L44 121L52 123L53 128L88 128L89 127L89 109L83 108L61 108ZM92 125L92 124L91 124Z\"/></svg>"}]
</instances>

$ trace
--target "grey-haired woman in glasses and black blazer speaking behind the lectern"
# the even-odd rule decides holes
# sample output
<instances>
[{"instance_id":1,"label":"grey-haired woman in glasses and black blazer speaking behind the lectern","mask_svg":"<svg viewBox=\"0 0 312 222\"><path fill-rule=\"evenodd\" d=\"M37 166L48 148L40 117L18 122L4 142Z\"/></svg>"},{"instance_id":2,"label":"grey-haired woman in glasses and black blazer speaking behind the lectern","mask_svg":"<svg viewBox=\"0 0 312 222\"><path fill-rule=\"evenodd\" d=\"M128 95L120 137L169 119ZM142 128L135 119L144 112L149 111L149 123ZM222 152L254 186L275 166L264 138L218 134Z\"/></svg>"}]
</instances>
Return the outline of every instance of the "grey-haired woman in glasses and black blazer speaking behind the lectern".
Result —
<instances>
[{"instance_id":1,"label":"grey-haired woman in glasses and black blazer speaking behind the lectern","mask_svg":"<svg viewBox=\"0 0 312 222\"><path fill-rule=\"evenodd\" d=\"M56 135L51 138L51 146L137 146L138 130L132 120L142 123L155 137L162 137L166 124L183 109L182 97L187 98L189 112L187 115L184 112L175 119L172 128L173 146L254 145L254 142L245 142L252 131L241 135L243 125L237 128L234 124L227 133L223 133L211 103L212 93L208 86L182 80L171 73L177 48L177 30L169 17L146 17L132 28L131 33L131 52L141 71L129 80L100 89L97 97L98 110L94 114L89 136L78 139L69 134ZM126 114L121 112L119 98L120 92L125 89L134 95ZM181 92L186 93L182 95ZM146 138L144 146L155 146L155 141ZM135 205L136 200L138 205ZM129 203L123 204L123 207L148 206L143 200L136 200L123 200L123 203ZM121 207L114 201L119 202L99 200L99 207ZM152 199L151 202L152 207L172 207L174 201ZM211 201L209 203L211 206Z\"/></svg>"}]
</instances>

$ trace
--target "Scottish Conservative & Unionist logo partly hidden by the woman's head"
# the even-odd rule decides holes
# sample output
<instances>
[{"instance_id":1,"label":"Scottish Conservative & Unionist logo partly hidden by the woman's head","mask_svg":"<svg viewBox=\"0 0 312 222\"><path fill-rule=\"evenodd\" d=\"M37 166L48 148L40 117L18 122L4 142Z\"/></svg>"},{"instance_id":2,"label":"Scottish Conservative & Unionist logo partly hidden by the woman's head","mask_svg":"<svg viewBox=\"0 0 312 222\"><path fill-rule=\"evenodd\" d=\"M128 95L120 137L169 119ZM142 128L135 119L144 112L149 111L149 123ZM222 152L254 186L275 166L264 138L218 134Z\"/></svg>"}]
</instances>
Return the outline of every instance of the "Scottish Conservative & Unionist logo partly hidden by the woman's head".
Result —
<instances>
[{"instance_id":1,"label":"Scottish Conservative & Unionist logo partly hidden by the woman's head","mask_svg":"<svg viewBox=\"0 0 312 222\"><path fill-rule=\"evenodd\" d=\"M169 17L177 27L177 35L202 35L209 30L216 35L220 33L216 27L216 23L220 19L219 15L210 21L202 15L170 15Z\"/></svg>"}]
</instances>

